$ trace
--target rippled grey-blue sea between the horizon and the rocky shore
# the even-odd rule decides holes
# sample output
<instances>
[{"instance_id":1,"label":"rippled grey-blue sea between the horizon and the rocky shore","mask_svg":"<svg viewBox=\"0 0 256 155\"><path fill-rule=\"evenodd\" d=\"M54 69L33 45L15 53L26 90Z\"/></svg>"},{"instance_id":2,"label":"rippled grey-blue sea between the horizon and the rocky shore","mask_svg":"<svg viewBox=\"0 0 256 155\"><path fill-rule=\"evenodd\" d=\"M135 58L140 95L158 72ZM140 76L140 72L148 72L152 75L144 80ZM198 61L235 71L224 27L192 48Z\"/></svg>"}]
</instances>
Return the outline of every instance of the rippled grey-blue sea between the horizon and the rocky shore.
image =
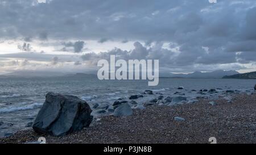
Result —
<instances>
[{"instance_id":1,"label":"rippled grey-blue sea between the horizon and the rocky shore","mask_svg":"<svg viewBox=\"0 0 256 155\"><path fill-rule=\"evenodd\" d=\"M0 128L0 132L16 132L27 129L27 123L35 118L49 91L55 93L76 95L86 100L90 106L94 104L109 104L118 98L129 98L132 94L143 93L144 90L154 91L139 104L160 94L175 96L176 91L184 93L188 99L193 99L200 94L191 91L195 89L218 89L217 94L206 94L208 97L217 97L225 90L239 90L241 93L250 93L256 84L256 79L159 79L159 85L147 86L147 81L100 81L92 77L58 77L58 78L10 78L0 79L0 122L14 124L10 128ZM177 87L183 86L183 90ZM93 111L93 115L97 116Z\"/></svg>"}]
</instances>

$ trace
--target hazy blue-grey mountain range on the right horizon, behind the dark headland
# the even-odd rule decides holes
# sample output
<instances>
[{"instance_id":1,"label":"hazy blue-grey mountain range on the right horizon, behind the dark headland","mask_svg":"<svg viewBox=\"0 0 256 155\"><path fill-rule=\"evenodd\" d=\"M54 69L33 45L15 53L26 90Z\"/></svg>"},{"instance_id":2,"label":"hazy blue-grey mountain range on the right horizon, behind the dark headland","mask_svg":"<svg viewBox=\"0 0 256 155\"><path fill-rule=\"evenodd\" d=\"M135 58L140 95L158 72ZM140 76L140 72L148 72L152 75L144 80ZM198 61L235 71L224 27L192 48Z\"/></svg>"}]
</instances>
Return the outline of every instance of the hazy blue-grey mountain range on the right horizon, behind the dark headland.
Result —
<instances>
[{"instance_id":1,"label":"hazy blue-grey mountain range on the right horizon, behind the dark headland","mask_svg":"<svg viewBox=\"0 0 256 155\"><path fill-rule=\"evenodd\" d=\"M160 77L169 77L169 78L222 78L224 76L231 76L233 74L239 74L235 70L216 70L213 72L193 72L189 74L164 74Z\"/></svg>"}]
</instances>

